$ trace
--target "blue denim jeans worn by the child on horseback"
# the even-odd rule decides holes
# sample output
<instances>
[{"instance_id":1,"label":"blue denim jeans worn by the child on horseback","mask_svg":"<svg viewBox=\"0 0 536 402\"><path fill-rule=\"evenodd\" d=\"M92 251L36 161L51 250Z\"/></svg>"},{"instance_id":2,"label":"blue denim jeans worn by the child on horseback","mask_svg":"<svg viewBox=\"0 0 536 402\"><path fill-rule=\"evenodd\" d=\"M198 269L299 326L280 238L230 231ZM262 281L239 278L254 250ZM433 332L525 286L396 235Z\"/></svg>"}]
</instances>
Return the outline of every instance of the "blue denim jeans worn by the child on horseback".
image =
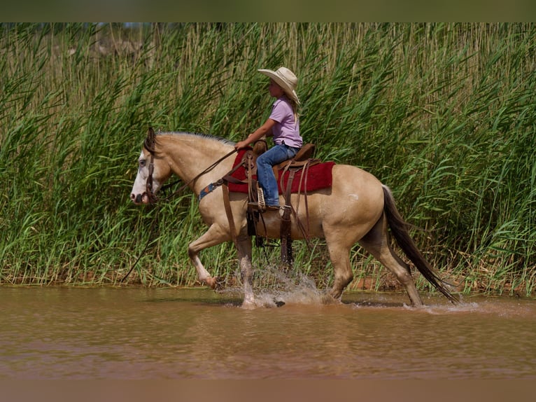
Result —
<instances>
[{"instance_id":1,"label":"blue denim jeans worn by the child on horseback","mask_svg":"<svg viewBox=\"0 0 536 402\"><path fill-rule=\"evenodd\" d=\"M272 166L294 158L299 148L285 144L274 145L257 158L257 180L262 193L265 194L266 205L279 205L279 191Z\"/></svg>"}]
</instances>

